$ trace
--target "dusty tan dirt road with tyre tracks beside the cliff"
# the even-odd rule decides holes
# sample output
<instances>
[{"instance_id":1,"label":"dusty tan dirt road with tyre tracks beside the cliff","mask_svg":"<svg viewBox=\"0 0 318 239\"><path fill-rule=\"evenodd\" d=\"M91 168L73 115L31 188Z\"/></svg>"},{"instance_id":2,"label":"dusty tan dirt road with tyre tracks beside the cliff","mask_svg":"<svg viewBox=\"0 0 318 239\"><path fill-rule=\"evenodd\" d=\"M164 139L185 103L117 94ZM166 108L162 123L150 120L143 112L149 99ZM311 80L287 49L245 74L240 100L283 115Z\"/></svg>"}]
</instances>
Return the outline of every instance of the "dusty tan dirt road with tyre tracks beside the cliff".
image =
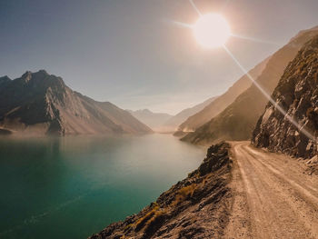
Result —
<instances>
[{"instance_id":1,"label":"dusty tan dirt road with tyre tracks beside the cliff","mask_svg":"<svg viewBox=\"0 0 318 239\"><path fill-rule=\"evenodd\" d=\"M318 177L286 155L232 145L234 204L225 238L318 238Z\"/></svg>"}]
</instances>

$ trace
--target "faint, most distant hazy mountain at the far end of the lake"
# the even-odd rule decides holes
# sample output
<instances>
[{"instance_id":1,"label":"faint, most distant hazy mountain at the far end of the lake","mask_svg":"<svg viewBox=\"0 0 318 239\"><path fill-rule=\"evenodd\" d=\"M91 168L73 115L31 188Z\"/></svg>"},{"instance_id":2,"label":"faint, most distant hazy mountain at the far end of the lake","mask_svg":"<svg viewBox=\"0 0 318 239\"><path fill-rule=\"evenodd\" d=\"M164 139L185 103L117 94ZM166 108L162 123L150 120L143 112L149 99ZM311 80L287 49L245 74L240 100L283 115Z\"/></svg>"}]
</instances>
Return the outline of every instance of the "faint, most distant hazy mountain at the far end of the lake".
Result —
<instances>
[{"instance_id":1,"label":"faint, most distant hazy mountain at the far end of the lake","mask_svg":"<svg viewBox=\"0 0 318 239\"><path fill-rule=\"evenodd\" d=\"M154 131L158 130L162 124L168 121L173 115L165 113L154 113L148 109L144 110L127 110L136 119L151 127Z\"/></svg>"}]
</instances>

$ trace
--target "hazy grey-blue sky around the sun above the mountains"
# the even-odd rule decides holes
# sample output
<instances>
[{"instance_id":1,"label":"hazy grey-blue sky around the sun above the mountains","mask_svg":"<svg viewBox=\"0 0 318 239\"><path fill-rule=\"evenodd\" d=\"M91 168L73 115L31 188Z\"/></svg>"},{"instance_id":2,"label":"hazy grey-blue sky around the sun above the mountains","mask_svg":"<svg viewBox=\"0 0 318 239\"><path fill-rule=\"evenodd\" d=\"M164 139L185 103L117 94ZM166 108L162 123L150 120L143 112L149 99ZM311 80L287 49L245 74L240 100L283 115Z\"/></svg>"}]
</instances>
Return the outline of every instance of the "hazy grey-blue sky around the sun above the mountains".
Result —
<instances>
[{"instance_id":1,"label":"hazy grey-blue sky around the sun above the mountains","mask_svg":"<svg viewBox=\"0 0 318 239\"><path fill-rule=\"evenodd\" d=\"M194 0L232 32L268 43L227 43L250 69L298 31L318 25L317 0ZM242 72L224 50L204 50L188 0L0 0L0 75L45 69L95 100L177 113L221 95Z\"/></svg>"}]
</instances>

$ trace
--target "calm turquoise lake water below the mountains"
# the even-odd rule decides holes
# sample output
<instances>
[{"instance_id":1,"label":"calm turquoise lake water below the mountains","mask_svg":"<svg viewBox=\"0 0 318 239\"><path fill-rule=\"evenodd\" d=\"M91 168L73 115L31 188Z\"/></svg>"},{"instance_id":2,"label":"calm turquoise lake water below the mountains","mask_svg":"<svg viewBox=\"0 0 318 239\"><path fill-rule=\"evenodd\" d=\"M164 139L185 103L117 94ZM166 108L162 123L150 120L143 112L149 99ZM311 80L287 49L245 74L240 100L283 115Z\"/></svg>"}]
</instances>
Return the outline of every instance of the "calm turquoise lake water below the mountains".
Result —
<instances>
[{"instance_id":1,"label":"calm turquoise lake water below the mountains","mask_svg":"<svg viewBox=\"0 0 318 239\"><path fill-rule=\"evenodd\" d=\"M153 202L204 153L169 134L0 138L0 238L86 238Z\"/></svg>"}]
</instances>

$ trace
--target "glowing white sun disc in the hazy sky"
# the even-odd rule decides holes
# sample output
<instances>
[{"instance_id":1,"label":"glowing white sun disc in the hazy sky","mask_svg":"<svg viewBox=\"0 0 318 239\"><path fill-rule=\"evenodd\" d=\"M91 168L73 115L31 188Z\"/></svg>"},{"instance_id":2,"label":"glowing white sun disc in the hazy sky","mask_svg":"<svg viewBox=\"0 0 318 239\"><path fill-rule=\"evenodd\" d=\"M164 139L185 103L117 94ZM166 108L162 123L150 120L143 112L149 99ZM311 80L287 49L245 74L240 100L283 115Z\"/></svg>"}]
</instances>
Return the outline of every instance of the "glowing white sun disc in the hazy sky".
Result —
<instances>
[{"instance_id":1,"label":"glowing white sun disc in the hazy sky","mask_svg":"<svg viewBox=\"0 0 318 239\"><path fill-rule=\"evenodd\" d=\"M196 41L204 48L223 46L231 35L230 25L223 15L207 14L193 26Z\"/></svg>"}]
</instances>

